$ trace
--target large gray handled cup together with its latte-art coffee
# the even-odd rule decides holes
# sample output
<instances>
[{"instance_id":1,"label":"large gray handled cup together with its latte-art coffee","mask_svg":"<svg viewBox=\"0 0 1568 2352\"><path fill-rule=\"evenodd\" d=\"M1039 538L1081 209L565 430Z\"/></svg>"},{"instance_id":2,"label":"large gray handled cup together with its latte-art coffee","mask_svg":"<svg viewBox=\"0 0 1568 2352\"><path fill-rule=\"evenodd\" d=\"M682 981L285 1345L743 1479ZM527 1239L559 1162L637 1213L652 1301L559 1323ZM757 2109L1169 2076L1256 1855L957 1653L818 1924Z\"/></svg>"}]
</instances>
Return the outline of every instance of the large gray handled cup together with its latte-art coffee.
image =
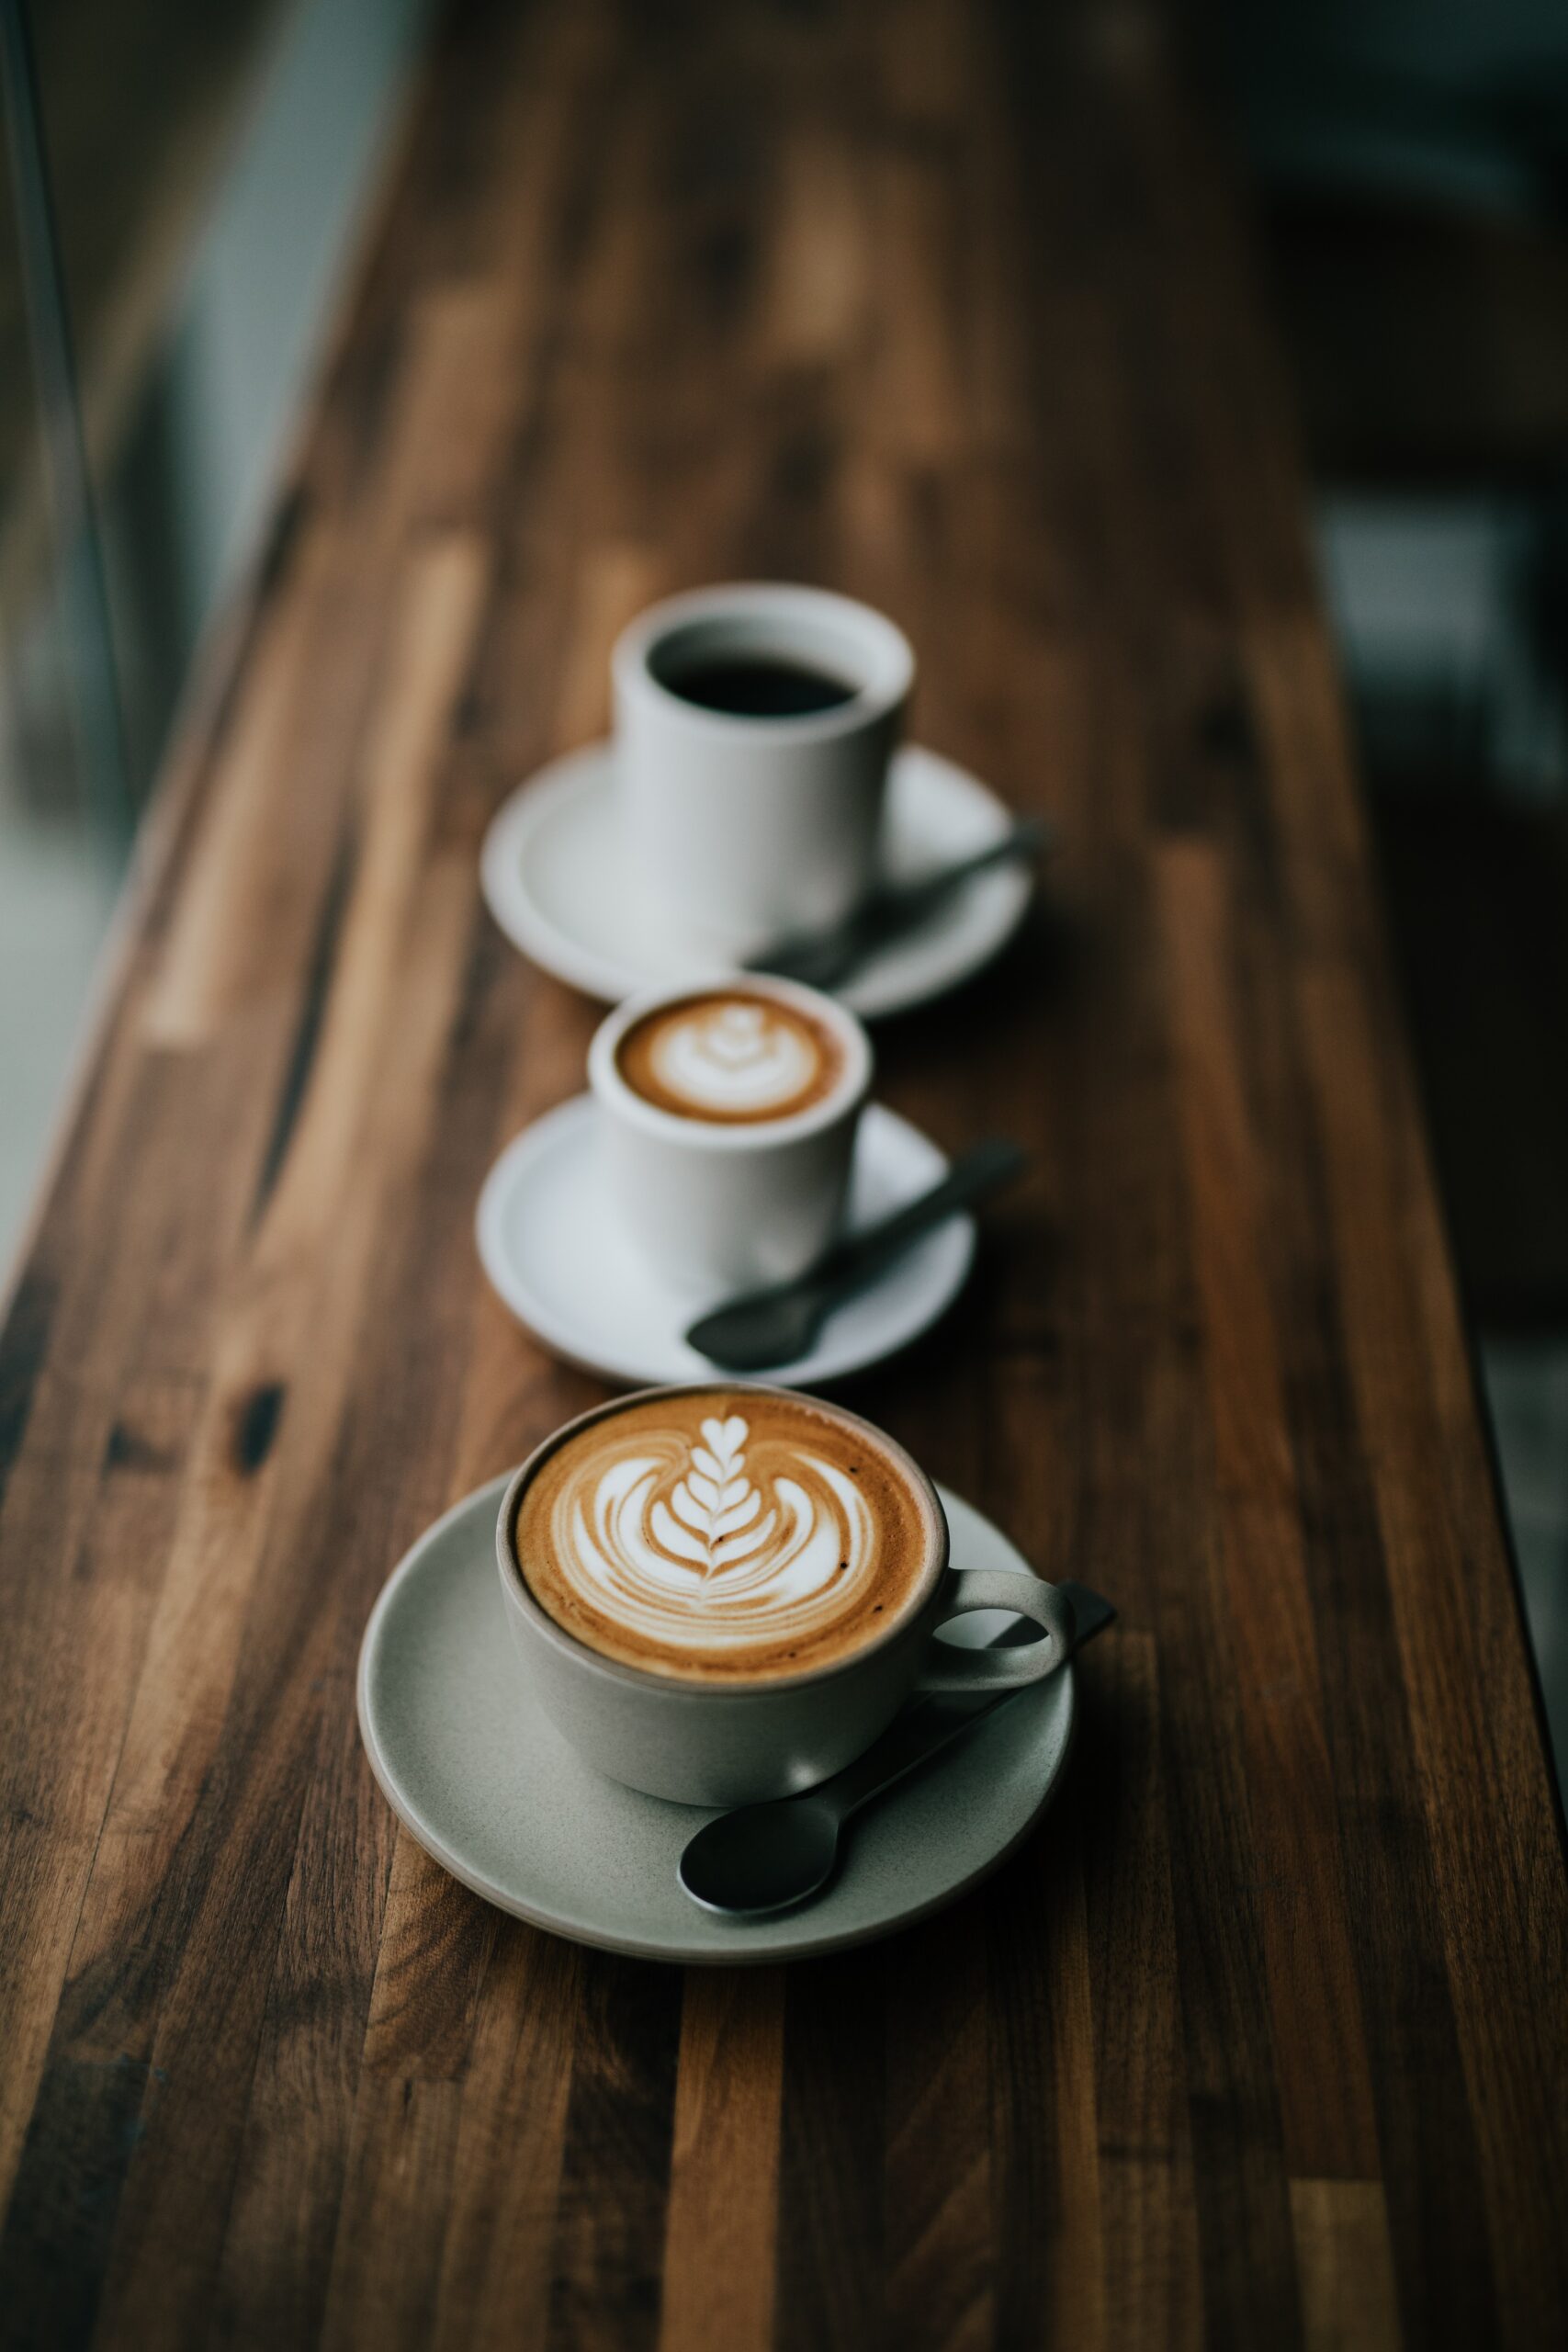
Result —
<instances>
[{"instance_id":1,"label":"large gray handled cup together with its latte-art coffee","mask_svg":"<svg viewBox=\"0 0 1568 2352\"><path fill-rule=\"evenodd\" d=\"M496 1526L534 1696L599 1771L682 1804L811 1788L914 1689L1006 1691L1072 1649L1051 1585L961 1571L924 1470L837 1404L757 1383L618 1397L517 1470ZM933 1642L969 1609L1006 1649Z\"/></svg>"}]
</instances>

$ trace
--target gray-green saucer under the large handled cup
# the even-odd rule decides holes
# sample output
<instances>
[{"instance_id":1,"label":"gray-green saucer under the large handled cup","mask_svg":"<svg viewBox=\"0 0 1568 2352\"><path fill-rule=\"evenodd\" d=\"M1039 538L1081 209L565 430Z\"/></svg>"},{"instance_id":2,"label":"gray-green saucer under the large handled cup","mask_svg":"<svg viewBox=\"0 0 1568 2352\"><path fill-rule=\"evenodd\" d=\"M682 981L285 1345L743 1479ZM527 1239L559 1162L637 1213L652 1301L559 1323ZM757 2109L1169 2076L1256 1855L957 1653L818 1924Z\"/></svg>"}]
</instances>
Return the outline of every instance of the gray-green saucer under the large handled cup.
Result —
<instances>
[{"instance_id":1,"label":"gray-green saucer under the large handled cup","mask_svg":"<svg viewBox=\"0 0 1568 2352\"><path fill-rule=\"evenodd\" d=\"M703 1912L677 1879L712 1816L607 1780L531 1703L496 1581L491 1479L418 1538L360 1646L360 1736L414 1839L487 1903L611 1952L682 1962L804 1959L924 1919L1025 1837L1072 1743L1065 1665L966 1733L853 1823L827 1893L780 1919ZM943 1491L952 1557L1030 1573L978 1510ZM976 1611L952 1639L994 1637Z\"/></svg>"}]
</instances>

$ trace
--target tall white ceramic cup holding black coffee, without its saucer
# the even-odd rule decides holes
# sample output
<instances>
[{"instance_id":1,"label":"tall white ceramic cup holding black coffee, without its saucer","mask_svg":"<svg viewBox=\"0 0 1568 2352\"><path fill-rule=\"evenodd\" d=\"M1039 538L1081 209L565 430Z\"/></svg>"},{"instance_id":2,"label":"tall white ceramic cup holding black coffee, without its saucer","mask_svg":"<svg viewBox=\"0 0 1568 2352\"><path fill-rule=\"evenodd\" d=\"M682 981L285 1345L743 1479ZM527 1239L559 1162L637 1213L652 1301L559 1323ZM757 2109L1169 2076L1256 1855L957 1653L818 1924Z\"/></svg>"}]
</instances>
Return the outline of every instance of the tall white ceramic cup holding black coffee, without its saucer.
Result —
<instances>
[{"instance_id":1,"label":"tall white ceramic cup holding black coffee, without its saucer","mask_svg":"<svg viewBox=\"0 0 1568 2352\"><path fill-rule=\"evenodd\" d=\"M682 670L726 659L797 661L856 691L799 717L675 691ZM914 682L900 628L825 588L701 588L632 621L611 673L632 870L693 946L745 957L860 903Z\"/></svg>"}]
</instances>

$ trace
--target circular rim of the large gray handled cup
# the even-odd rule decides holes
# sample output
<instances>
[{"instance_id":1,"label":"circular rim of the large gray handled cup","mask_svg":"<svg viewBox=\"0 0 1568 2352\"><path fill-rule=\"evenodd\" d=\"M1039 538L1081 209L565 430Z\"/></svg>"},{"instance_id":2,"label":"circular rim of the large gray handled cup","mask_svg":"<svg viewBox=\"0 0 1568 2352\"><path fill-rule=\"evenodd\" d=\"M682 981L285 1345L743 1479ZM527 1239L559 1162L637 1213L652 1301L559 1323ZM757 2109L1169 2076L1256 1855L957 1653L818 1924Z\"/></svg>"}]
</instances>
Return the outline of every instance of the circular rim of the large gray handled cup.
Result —
<instances>
[{"instance_id":1,"label":"circular rim of the large gray handled cup","mask_svg":"<svg viewBox=\"0 0 1568 2352\"><path fill-rule=\"evenodd\" d=\"M564 1446L569 1437L576 1437L578 1430L590 1428L595 1421L609 1421L614 1414L623 1414L632 1404L646 1404L651 1397L701 1397L712 1392L788 1397L795 1404L806 1404L816 1411L832 1414L839 1421L849 1421L853 1423L853 1428L865 1430L877 1446L889 1451L898 1463L898 1468L907 1472L917 1494L924 1496L926 1508L931 1512L933 1545L931 1545L931 1562L922 1571L922 1583L910 1604L893 1618L893 1623L884 1625L882 1632L877 1632L870 1642L863 1642L860 1649L853 1649L846 1658L832 1658L827 1665L809 1665L795 1675L766 1675L759 1682L719 1682L719 1679L705 1679L701 1675L679 1675L679 1672L656 1675L651 1668L625 1665L623 1658L607 1658L602 1649L592 1649L592 1644L578 1642L574 1632L567 1632L567 1628L559 1625L538 1599L534 1599L529 1578L524 1576L522 1562L517 1557L515 1529L517 1529L517 1510L522 1505L522 1496L529 1482L536 1477L536 1472L545 1465L545 1461L559 1446ZM936 1604L950 1562L952 1562L952 1529L947 1526L947 1512L943 1510L943 1498L938 1496L933 1482L919 1468L914 1456L907 1451L907 1446L900 1446L896 1437L889 1437L886 1430L879 1430L875 1421L865 1418L865 1414L851 1414L846 1404L830 1402L827 1397L811 1397L799 1388L780 1388L778 1381L719 1381L719 1378L658 1381L654 1388L635 1388L628 1390L628 1395L623 1397L607 1397L604 1404L590 1404L585 1414L576 1414L571 1421L564 1421L559 1430L552 1430L548 1437L543 1437L527 1456L527 1461L522 1461L512 1470L510 1479L505 1482L505 1494L501 1496L501 1512L496 1517L496 1564L501 1569L501 1581L505 1583L510 1597L522 1606L522 1613L527 1616L529 1625L538 1635L543 1635L557 1651L564 1651L564 1656L574 1658L581 1665L597 1668L597 1672L609 1675L611 1682L618 1682L632 1691L682 1691L684 1696L696 1696L701 1700L726 1698L731 1700L731 1705L736 1700L757 1698L773 1691L799 1691L813 1682L832 1682L837 1675L851 1675L856 1668L865 1665L867 1658L877 1656L879 1651L889 1649L896 1639L900 1639L910 1630L910 1625L926 1609Z\"/></svg>"}]
</instances>

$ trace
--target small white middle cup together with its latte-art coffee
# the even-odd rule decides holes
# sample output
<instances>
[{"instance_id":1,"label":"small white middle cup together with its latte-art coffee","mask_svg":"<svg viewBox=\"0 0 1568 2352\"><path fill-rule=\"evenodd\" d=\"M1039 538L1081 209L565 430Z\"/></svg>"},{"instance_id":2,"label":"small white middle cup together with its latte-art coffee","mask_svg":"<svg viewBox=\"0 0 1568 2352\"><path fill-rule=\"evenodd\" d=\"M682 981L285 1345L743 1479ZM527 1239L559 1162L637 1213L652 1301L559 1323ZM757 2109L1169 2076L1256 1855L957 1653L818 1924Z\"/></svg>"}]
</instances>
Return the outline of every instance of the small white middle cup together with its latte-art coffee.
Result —
<instances>
[{"instance_id":1,"label":"small white middle cup together with its latte-art coffee","mask_svg":"<svg viewBox=\"0 0 1568 2352\"><path fill-rule=\"evenodd\" d=\"M832 997L750 974L630 997L588 1082L614 1209L663 1279L745 1291L827 1249L872 1082Z\"/></svg>"}]
</instances>

